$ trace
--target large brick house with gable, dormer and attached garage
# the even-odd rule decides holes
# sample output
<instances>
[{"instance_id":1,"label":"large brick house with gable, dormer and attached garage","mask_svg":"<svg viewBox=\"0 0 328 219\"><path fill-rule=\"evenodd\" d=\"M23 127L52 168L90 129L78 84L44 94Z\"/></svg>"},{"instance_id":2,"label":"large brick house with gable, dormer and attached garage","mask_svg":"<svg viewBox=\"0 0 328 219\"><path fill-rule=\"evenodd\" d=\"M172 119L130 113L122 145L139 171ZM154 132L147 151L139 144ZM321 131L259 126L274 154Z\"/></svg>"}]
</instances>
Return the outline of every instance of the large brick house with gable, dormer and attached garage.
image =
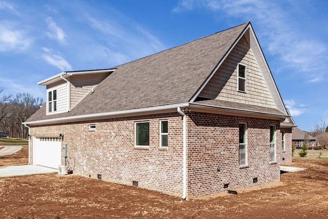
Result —
<instances>
[{"instance_id":1,"label":"large brick house with gable, dormer and attached garage","mask_svg":"<svg viewBox=\"0 0 328 219\"><path fill-rule=\"evenodd\" d=\"M291 160L295 124L251 23L38 84L47 101L24 122L33 165L185 200L277 182Z\"/></svg>"}]
</instances>

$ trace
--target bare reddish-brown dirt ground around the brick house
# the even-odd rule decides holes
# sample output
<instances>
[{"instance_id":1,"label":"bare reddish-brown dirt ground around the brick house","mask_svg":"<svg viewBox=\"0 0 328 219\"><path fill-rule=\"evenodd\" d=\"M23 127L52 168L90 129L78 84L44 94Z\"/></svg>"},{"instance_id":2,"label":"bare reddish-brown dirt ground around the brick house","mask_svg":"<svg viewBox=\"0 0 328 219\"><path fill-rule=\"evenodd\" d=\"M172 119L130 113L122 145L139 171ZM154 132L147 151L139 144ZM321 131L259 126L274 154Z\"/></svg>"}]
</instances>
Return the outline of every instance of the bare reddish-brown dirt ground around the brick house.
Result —
<instances>
[{"instance_id":1,"label":"bare reddish-brown dirt ground around the brick house","mask_svg":"<svg viewBox=\"0 0 328 219\"><path fill-rule=\"evenodd\" d=\"M16 156L22 157L20 153L24 151ZM9 164L22 159L4 157L0 157L0 168L4 160ZM0 178L0 217L328 218L328 161L295 158L288 165L308 169L282 173L281 182L268 186L189 201L74 175Z\"/></svg>"}]
</instances>

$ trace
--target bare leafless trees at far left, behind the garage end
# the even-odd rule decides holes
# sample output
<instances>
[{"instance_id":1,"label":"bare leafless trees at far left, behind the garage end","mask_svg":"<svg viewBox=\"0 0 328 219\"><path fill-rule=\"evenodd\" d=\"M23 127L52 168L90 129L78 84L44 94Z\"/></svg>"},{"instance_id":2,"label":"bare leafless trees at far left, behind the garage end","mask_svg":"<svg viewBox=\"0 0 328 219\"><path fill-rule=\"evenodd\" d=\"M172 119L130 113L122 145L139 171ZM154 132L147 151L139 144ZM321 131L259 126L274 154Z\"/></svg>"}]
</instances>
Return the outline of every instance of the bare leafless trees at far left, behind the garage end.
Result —
<instances>
[{"instance_id":1,"label":"bare leafless trees at far left, behind the garage end","mask_svg":"<svg viewBox=\"0 0 328 219\"><path fill-rule=\"evenodd\" d=\"M11 138L27 138L28 128L22 122L37 111L44 103L43 98L28 93L2 95L3 91L0 88L0 131L9 133Z\"/></svg>"}]
</instances>

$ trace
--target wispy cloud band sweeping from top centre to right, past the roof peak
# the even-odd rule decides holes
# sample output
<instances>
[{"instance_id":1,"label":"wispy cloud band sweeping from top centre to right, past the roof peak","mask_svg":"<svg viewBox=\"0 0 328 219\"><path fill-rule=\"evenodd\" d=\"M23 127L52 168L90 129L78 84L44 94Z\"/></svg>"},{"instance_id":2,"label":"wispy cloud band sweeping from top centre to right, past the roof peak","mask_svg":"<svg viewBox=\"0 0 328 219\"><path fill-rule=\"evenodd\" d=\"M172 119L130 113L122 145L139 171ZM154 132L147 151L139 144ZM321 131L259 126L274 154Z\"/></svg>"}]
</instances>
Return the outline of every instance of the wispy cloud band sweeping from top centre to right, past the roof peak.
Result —
<instances>
[{"instance_id":1,"label":"wispy cloud band sweeping from top centre to right, past the roof peak","mask_svg":"<svg viewBox=\"0 0 328 219\"><path fill-rule=\"evenodd\" d=\"M294 10L285 10L284 7L295 8L293 1L269 2L261 0L180 0L174 12L201 9L217 14L226 14L233 18L245 21L251 20L261 29L261 45L267 46L269 52L279 56L283 68L296 69L296 74L304 78L310 74L324 77L328 68L328 46L319 36L310 35L305 29L298 28L301 18L294 18ZM311 1L304 4L311 4ZM296 11L296 10L295 10ZM296 12L295 12L296 13ZM306 14L306 11L303 11ZM298 15L301 16L301 15ZM318 20L313 19L313 25L321 27ZM314 82L314 81L313 81Z\"/></svg>"}]
</instances>

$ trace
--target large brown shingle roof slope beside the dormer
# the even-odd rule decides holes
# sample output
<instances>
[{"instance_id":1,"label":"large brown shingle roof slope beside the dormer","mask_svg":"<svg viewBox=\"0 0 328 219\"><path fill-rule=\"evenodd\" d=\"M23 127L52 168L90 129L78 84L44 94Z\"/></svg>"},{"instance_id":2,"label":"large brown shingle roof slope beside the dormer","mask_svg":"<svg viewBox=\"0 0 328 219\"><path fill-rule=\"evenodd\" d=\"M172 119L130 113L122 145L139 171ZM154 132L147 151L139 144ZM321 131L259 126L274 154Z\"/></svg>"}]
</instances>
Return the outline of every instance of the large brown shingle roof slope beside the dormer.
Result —
<instances>
[{"instance_id":1,"label":"large brown shingle roof slope beside the dormer","mask_svg":"<svg viewBox=\"0 0 328 219\"><path fill-rule=\"evenodd\" d=\"M119 65L69 113L26 122L188 102L250 23Z\"/></svg>"}]
</instances>

